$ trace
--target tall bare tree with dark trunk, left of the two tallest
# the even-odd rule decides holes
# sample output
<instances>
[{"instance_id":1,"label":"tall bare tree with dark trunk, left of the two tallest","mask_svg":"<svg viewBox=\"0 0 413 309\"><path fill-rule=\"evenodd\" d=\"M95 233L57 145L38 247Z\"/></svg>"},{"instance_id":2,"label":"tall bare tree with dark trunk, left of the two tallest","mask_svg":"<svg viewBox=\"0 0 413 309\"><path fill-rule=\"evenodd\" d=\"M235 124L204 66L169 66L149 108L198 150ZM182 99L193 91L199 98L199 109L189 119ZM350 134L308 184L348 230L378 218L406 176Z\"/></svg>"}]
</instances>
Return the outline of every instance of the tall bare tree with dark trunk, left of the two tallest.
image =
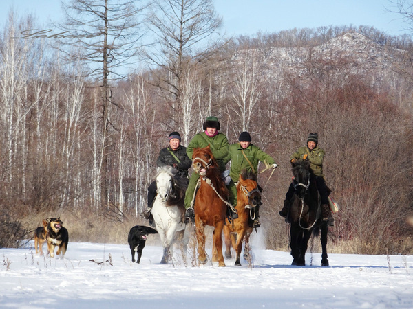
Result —
<instances>
[{"instance_id":1,"label":"tall bare tree with dark trunk, left of the two tallest","mask_svg":"<svg viewBox=\"0 0 413 309\"><path fill-rule=\"evenodd\" d=\"M112 104L111 79L122 74L117 71L138 52L142 32L139 27L142 20L138 17L145 7L136 8L135 0L72 0L70 4L63 3L66 15L61 29L70 33L61 39L61 43L74 47L75 54L66 51L70 59L83 60L89 65L87 76L96 76L100 81L102 119L101 139L103 139L101 170L100 170L100 198L102 205L107 205L108 196L108 156L111 126L109 110ZM72 36L72 37L71 37ZM111 77L111 74L114 76Z\"/></svg>"}]
</instances>

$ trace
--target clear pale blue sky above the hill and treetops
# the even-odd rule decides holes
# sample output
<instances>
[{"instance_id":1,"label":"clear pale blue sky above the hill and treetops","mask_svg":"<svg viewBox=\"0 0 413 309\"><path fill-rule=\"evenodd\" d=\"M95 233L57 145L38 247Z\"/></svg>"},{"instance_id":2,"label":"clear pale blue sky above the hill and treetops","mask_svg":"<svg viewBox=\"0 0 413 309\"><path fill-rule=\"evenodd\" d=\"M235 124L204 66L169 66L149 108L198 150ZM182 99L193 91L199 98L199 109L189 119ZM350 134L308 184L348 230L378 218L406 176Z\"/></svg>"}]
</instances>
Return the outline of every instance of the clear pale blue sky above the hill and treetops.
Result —
<instances>
[{"instance_id":1,"label":"clear pale blue sky above the hill and treetops","mask_svg":"<svg viewBox=\"0 0 413 309\"><path fill-rule=\"evenodd\" d=\"M329 25L367 25L391 35L405 33L399 14L385 12L389 0L214 0L229 35L279 32L293 28ZM24 15L33 13L39 21L61 15L59 0L0 0L3 27L10 6Z\"/></svg>"}]
</instances>

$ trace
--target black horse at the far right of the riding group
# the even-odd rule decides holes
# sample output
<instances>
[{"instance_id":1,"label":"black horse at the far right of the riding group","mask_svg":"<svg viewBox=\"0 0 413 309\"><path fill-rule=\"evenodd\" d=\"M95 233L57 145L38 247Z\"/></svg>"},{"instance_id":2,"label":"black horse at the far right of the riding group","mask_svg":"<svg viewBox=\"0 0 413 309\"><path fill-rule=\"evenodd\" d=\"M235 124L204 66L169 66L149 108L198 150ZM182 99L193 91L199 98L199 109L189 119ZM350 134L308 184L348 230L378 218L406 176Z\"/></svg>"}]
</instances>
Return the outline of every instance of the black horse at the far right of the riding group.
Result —
<instances>
[{"instance_id":1,"label":"black horse at the far right of the riding group","mask_svg":"<svg viewBox=\"0 0 413 309\"><path fill-rule=\"evenodd\" d=\"M328 222L321 221L320 198L310 162L297 161L291 170L295 188L289 214L292 265L306 265L308 240L313 232L321 230L321 266L328 266Z\"/></svg>"}]
</instances>

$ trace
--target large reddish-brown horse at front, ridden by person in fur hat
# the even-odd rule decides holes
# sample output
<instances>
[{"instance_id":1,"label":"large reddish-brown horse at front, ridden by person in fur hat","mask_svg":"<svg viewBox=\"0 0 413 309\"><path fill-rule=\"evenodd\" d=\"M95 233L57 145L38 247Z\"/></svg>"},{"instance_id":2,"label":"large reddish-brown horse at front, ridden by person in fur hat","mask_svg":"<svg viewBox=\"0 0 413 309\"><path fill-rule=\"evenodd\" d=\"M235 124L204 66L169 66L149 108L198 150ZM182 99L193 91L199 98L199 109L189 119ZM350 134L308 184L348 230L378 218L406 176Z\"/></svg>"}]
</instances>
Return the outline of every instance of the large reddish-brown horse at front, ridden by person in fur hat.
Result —
<instances>
[{"instance_id":1,"label":"large reddish-brown horse at front, ridden by person in fur hat","mask_svg":"<svg viewBox=\"0 0 413 309\"><path fill-rule=\"evenodd\" d=\"M196 238L198 240L198 260L207 263L205 253L205 225L214 227L212 262L225 266L222 255L222 229L225 222L226 203L229 192L221 178L220 168L213 158L209 146L193 150L192 165L200 174L200 187L196 193L193 210L195 213Z\"/></svg>"}]
</instances>

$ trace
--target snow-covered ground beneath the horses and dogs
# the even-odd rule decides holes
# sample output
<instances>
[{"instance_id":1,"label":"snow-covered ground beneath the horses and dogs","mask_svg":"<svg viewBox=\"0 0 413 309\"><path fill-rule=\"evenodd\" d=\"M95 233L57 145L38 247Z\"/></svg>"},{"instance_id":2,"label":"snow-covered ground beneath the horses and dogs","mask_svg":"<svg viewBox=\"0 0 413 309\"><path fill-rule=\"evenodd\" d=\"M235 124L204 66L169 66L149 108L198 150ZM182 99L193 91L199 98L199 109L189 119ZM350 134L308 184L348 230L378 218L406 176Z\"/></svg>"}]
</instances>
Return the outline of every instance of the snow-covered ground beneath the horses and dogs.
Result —
<instances>
[{"instance_id":1,"label":"snow-covered ground beneath the horses and dogs","mask_svg":"<svg viewBox=\"0 0 413 309\"><path fill-rule=\"evenodd\" d=\"M412 255L330 254L321 268L307 253L297 267L253 244L253 264L219 268L185 266L178 252L159 264L150 245L140 264L127 244L69 242L64 259L32 247L0 249L0 308L413 308Z\"/></svg>"}]
</instances>

